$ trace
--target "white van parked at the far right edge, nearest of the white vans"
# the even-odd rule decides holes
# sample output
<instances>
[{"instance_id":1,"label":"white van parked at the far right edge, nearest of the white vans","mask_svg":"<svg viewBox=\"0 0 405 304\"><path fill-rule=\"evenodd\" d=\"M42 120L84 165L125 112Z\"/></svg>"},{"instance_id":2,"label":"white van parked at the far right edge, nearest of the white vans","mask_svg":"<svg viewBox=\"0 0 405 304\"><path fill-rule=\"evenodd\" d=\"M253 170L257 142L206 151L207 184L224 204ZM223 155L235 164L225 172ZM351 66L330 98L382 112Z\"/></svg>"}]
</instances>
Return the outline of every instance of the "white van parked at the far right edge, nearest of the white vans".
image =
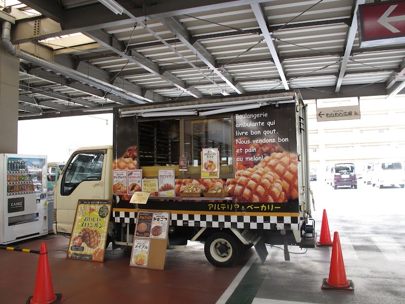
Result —
<instances>
[{"instance_id":1,"label":"white van parked at the far right edge, nearest of the white vans","mask_svg":"<svg viewBox=\"0 0 405 304\"><path fill-rule=\"evenodd\" d=\"M374 163L371 184L378 185L380 188L385 185L399 185L401 188L405 186L405 171L403 170L400 161L379 161Z\"/></svg>"}]
</instances>

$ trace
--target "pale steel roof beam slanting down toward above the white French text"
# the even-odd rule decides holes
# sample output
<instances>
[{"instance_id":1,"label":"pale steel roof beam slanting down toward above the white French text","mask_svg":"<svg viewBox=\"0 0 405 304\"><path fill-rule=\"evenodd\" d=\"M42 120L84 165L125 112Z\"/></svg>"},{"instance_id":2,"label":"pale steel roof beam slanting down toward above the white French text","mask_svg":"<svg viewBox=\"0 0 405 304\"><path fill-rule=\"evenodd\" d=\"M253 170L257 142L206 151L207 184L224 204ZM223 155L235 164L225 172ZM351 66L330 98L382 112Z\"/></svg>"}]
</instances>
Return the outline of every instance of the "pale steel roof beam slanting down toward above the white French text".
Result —
<instances>
[{"instance_id":1,"label":"pale steel roof beam slanting down toward above the white French text","mask_svg":"<svg viewBox=\"0 0 405 304\"><path fill-rule=\"evenodd\" d=\"M270 50L271 57L273 58L273 62L277 68L278 74L280 75L281 82L284 85L284 88L286 90L289 90L290 88L286 79L284 68L282 67L280 59L278 58L277 46L275 45L272 39L272 35L268 30L268 20L265 15L265 11L260 4L251 4L251 7L257 19L257 22L259 23L260 29L262 30L263 37L267 43L267 47Z\"/></svg>"}]
</instances>

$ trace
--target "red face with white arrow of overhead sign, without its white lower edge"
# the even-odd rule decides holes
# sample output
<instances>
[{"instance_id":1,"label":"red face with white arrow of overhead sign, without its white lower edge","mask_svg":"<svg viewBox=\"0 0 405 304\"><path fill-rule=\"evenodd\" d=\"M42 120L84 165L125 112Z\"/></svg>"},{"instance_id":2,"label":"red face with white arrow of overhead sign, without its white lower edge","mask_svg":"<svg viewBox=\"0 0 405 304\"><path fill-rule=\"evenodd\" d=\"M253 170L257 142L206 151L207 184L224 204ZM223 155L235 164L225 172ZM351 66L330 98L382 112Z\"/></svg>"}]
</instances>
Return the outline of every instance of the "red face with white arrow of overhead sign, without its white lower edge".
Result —
<instances>
[{"instance_id":1,"label":"red face with white arrow of overhead sign, without its white lower edge","mask_svg":"<svg viewBox=\"0 0 405 304\"><path fill-rule=\"evenodd\" d=\"M405 35L405 2L384 2L358 7L364 40Z\"/></svg>"}]
</instances>

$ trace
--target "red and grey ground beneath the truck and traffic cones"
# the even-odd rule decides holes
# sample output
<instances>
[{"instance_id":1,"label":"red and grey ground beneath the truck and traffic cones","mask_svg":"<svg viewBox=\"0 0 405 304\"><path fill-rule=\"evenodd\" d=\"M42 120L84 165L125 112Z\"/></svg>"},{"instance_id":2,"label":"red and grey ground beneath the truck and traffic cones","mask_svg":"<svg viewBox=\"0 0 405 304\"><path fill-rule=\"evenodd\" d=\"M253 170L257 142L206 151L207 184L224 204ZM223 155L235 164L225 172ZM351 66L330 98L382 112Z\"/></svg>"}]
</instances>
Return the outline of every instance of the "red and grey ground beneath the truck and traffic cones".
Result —
<instances>
[{"instance_id":1,"label":"red and grey ground beneath the truck and traffic cones","mask_svg":"<svg viewBox=\"0 0 405 304\"><path fill-rule=\"evenodd\" d=\"M323 188L319 187L313 213L315 231L319 238L326 208L332 240L334 231L339 233L353 293L320 288L323 278L329 277L331 247L306 251L290 246L290 261L284 260L283 248L268 247L265 263L251 248L233 268L223 269L207 261L203 244L190 242L187 249L168 250L165 270L159 271L130 267L131 250L113 251L111 246L103 263L66 259L69 239L60 235L9 246L39 250L41 243L47 244L53 289L66 297L66 304L405 303L405 204L400 199L404 189ZM356 194L358 199L346 200L348 194ZM392 213L382 215L381 202L390 196L383 205L385 213ZM370 209L373 204L375 208ZM356 208L363 212L353 212ZM366 214L367 210L373 214ZM38 257L0 250L0 303L25 303L33 295Z\"/></svg>"}]
</instances>

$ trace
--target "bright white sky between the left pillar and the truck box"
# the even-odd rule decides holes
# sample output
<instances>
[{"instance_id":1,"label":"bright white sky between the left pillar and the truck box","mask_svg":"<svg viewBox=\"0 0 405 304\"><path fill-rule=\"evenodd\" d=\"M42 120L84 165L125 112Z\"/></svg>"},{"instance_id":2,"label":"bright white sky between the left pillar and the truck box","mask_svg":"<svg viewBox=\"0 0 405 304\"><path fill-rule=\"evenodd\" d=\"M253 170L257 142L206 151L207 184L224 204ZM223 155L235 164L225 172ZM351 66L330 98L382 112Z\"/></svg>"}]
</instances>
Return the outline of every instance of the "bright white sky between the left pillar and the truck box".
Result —
<instances>
[{"instance_id":1,"label":"bright white sky between the left pillar and the truck box","mask_svg":"<svg viewBox=\"0 0 405 304\"><path fill-rule=\"evenodd\" d=\"M112 144L112 114L18 122L17 153L47 155L48 162L66 162L78 147L109 144Z\"/></svg>"}]
</instances>

